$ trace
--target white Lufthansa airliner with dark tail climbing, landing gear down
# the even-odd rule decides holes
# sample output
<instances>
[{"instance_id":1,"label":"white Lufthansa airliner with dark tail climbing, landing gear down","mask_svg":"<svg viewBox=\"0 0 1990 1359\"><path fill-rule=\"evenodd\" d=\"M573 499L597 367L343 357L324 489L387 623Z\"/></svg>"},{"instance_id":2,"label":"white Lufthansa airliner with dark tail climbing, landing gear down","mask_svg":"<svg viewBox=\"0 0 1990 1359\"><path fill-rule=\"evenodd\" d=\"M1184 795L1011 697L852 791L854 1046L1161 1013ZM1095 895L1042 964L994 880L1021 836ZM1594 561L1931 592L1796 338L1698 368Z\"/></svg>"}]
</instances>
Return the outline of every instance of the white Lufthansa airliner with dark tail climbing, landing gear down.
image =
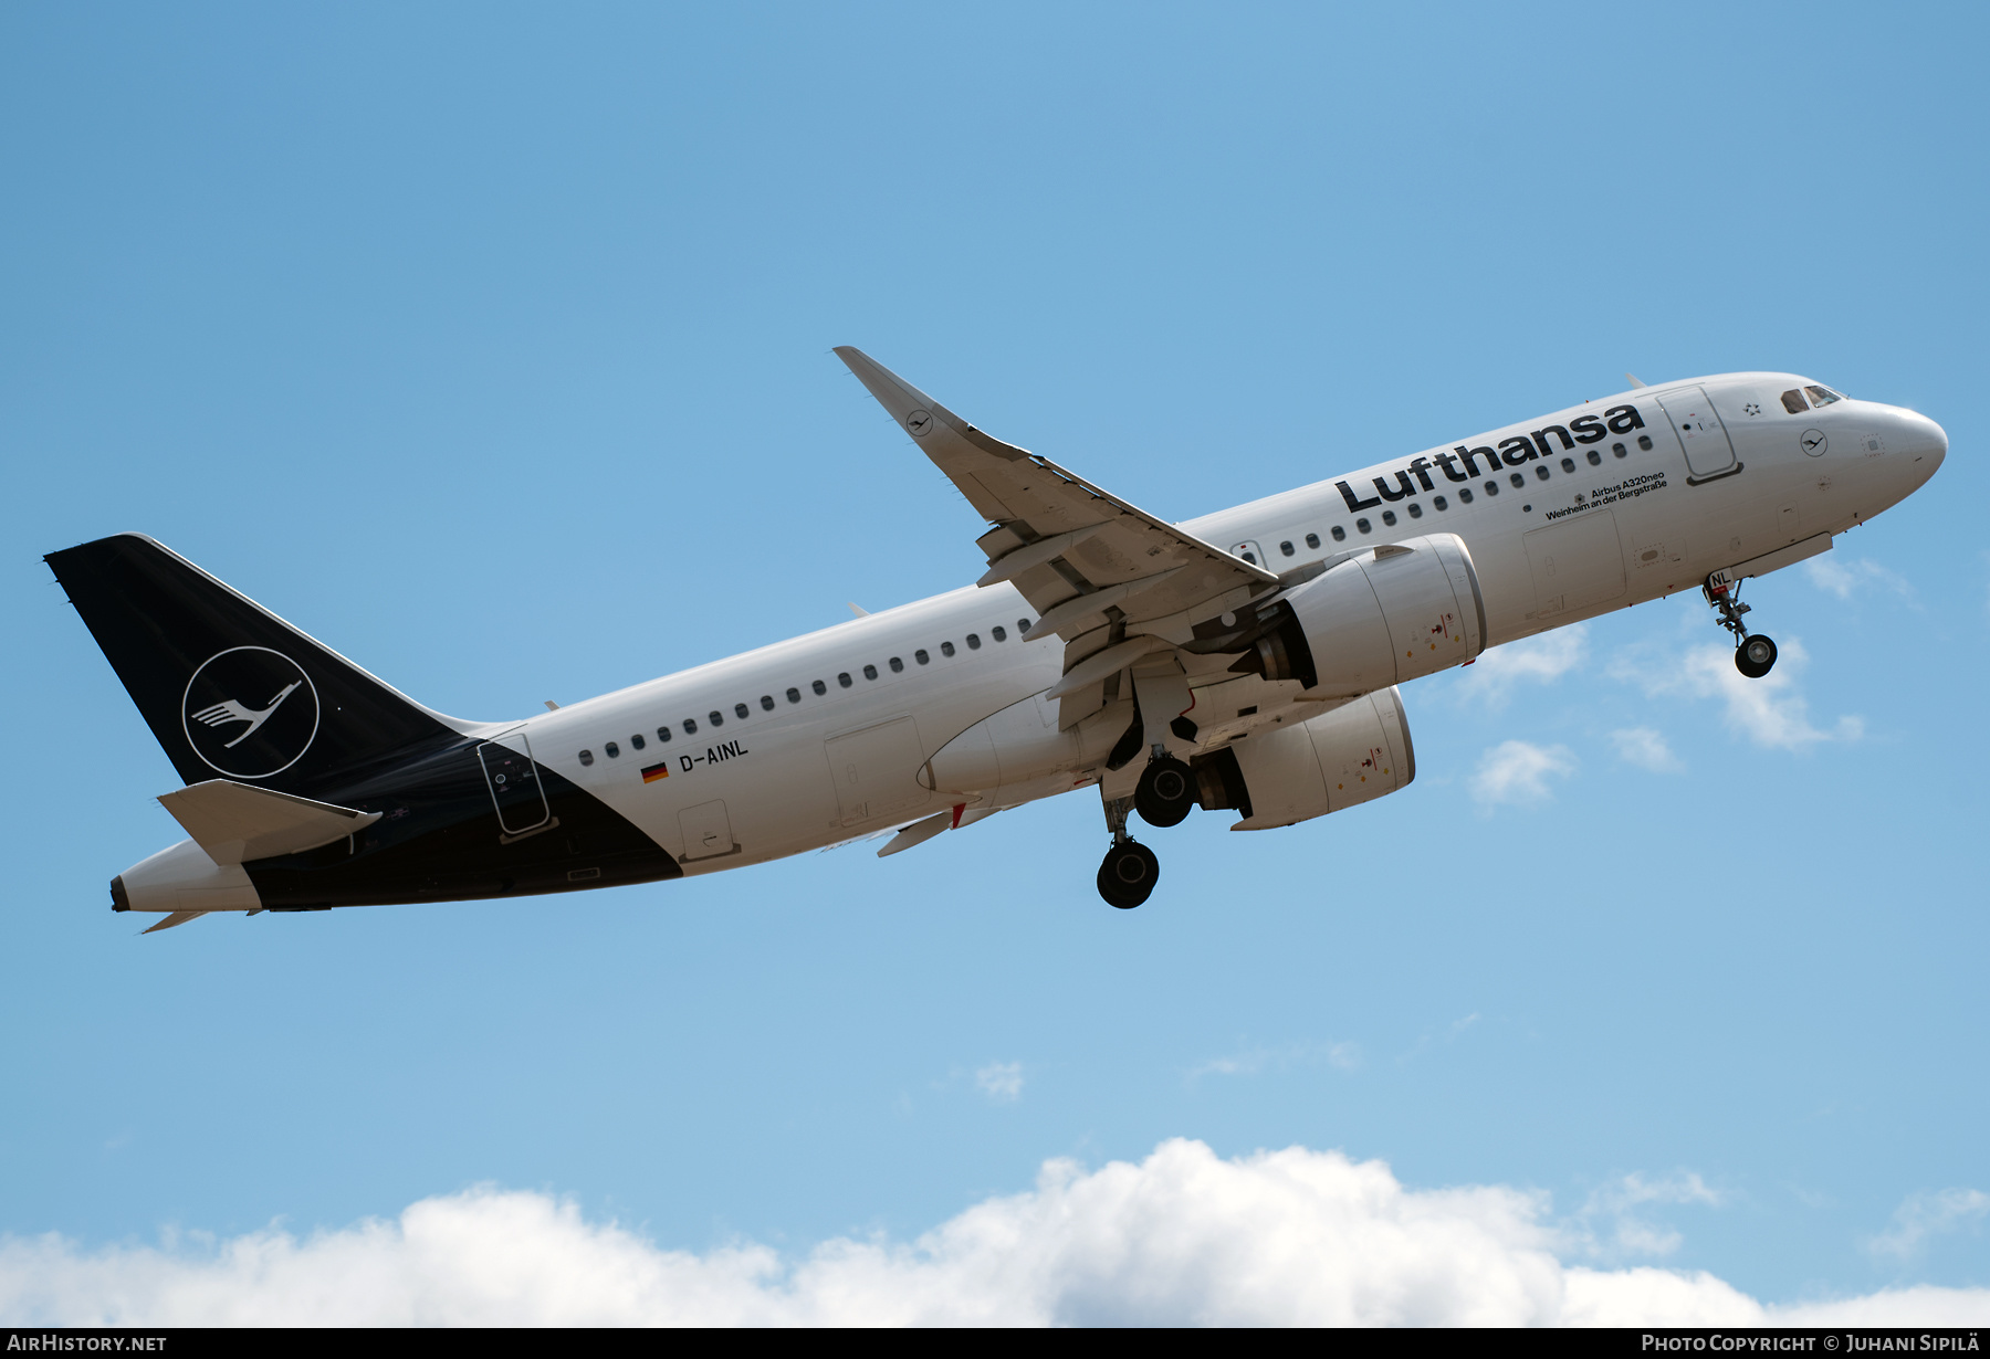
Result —
<instances>
[{"instance_id":1,"label":"white Lufthansa airliner with dark tail climbing, landing gear down","mask_svg":"<svg viewBox=\"0 0 1990 1359\"><path fill-rule=\"evenodd\" d=\"M1948 436L1787 372L1632 388L1168 523L836 354L985 519L923 599L511 722L428 708L161 543L46 557L185 782L187 840L111 879L159 915L462 901L901 854L1096 788L1098 893L1148 899L1132 822L1276 830L1417 776L1401 686L1697 589L1759 679L1741 583L1918 489ZM987 834L987 832L983 832ZM929 850L931 854L931 850Z\"/></svg>"}]
</instances>

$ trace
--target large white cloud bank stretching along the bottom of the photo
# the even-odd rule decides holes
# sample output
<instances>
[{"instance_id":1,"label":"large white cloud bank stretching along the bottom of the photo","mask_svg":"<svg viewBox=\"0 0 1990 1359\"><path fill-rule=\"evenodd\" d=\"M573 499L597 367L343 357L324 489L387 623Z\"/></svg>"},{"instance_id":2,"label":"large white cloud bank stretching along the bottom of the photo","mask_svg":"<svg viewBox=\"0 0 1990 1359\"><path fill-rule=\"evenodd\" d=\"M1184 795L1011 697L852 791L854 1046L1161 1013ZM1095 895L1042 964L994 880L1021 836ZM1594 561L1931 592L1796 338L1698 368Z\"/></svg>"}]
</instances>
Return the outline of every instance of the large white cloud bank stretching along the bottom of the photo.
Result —
<instances>
[{"instance_id":1,"label":"large white cloud bank stretching along the bottom of the photo","mask_svg":"<svg viewBox=\"0 0 1990 1359\"><path fill-rule=\"evenodd\" d=\"M1288 1148L1049 1162L913 1242L663 1250L545 1194L297 1238L0 1242L10 1325L1982 1325L1990 1289L1763 1305L1711 1273L1570 1267L1540 1194L1411 1190Z\"/></svg>"}]
</instances>

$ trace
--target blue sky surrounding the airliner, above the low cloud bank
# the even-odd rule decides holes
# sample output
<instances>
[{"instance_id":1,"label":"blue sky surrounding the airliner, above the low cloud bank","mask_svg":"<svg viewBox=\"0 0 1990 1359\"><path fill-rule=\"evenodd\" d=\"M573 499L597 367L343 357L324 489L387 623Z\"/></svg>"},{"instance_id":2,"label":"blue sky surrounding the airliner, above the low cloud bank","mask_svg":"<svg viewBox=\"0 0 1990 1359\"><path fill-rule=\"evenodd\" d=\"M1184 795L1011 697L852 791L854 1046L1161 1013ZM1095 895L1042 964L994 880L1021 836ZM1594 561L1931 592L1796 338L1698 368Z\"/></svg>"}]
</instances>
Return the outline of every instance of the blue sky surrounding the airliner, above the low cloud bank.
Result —
<instances>
[{"instance_id":1,"label":"blue sky surrounding the airliner, above the low cloud bank","mask_svg":"<svg viewBox=\"0 0 1990 1359\"><path fill-rule=\"evenodd\" d=\"M1570 1267L1990 1287L1984 26L8 8L0 1234L492 1184L798 1258L1198 1138L1544 1196ZM40 553L141 529L442 710L571 702L981 569L846 342L1178 519L1624 370L1952 452L1749 587L1769 686L1690 597L1489 655L1405 690L1413 788L1190 818L1140 911L1077 794L888 862L111 915L175 778Z\"/></svg>"}]
</instances>

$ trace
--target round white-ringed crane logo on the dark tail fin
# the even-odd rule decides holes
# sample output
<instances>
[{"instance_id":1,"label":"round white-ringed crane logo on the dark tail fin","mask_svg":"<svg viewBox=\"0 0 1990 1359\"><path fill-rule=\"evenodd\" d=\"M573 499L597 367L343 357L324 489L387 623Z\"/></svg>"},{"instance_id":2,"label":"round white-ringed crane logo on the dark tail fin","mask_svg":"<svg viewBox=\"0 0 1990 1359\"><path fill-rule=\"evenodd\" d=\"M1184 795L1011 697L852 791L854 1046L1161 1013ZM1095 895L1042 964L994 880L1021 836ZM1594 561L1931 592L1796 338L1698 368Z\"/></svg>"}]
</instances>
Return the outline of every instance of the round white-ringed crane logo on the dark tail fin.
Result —
<instances>
[{"instance_id":1,"label":"round white-ringed crane logo on the dark tail fin","mask_svg":"<svg viewBox=\"0 0 1990 1359\"><path fill-rule=\"evenodd\" d=\"M211 655L187 680L179 712L193 754L229 778L281 774L318 734L318 690L269 647Z\"/></svg>"}]
</instances>

